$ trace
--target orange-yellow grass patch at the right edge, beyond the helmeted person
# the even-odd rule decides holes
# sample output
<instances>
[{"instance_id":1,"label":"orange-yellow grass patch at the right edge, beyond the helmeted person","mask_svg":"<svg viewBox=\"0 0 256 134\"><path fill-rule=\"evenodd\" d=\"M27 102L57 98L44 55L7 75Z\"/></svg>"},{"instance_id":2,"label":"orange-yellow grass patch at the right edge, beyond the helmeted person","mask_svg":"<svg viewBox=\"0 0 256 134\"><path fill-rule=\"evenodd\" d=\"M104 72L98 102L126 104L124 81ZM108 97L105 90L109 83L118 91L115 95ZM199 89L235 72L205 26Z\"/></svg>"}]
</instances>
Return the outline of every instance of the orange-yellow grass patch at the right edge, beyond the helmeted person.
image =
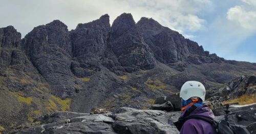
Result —
<instances>
[{"instance_id":1,"label":"orange-yellow grass patch at the right edge, beyond the helmeted person","mask_svg":"<svg viewBox=\"0 0 256 134\"><path fill-rule=\"evenodd\" d=\"M239 102L239 105L246 105L246 104L251 104L251 103L256 103L256 94L253 95L242 95L239 98L231 99L222 102L223 104L227 103L233 103L233 102Z\"/></svg>"}]
</instances>

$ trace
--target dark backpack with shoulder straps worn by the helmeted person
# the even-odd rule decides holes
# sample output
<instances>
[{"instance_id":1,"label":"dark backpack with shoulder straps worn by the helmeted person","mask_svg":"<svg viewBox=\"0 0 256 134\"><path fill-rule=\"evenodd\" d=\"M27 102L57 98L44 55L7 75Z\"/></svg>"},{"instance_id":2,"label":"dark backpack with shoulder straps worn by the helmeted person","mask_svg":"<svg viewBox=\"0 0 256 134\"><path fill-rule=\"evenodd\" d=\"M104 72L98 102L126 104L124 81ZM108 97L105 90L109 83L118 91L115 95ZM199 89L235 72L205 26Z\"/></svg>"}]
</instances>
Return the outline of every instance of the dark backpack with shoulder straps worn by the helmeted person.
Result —
<instances>
[{"instance_id":1,"label":"dark backpack with shoulder straps worn by the helmeted person","mask_svg":"<svg viewBox=\"0 0 256 134\"><path fill-rule=\"evenodd\" d=\"M211 118L205 117L205 116L188 116L193 110L195 110L197 107L195 105L191 106L189 109L186 110L185 118L179 120L178 122L174 122L178 130L181 129L182 125L189 119L200 119L204 120L208 123L210 123L214 128L216 128L216 131L218 134L250 134L250 132L244 127L240 125L235 124L229 124L227 121L227 117L230 111L228 111L228 106L226 106L227 110L224 110L226 112L225 120L222 120L221 122L217 122L215 120L212 120Z\"/></svg>"}]
</instances>

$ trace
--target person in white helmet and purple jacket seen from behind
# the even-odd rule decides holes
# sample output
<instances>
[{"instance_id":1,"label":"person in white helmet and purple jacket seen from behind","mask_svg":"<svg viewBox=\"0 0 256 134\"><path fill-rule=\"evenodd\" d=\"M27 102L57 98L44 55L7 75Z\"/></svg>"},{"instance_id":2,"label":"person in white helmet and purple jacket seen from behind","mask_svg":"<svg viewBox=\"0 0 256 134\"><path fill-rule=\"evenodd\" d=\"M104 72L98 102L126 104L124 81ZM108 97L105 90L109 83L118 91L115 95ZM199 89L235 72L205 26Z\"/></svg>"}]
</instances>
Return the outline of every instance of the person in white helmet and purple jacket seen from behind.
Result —
<instances>
[{"instance_id":1,"label":"person in white helmet and purple jacket seen from behind","mask_svg":"<svg viewBox=\"0 0 256 134\"><path fill-rule=\"evenodd\" d=\"M203 105L205 93L204 85L198 81L187 81L182 85L180 97L183 113L174 123L181 134L217 133L215 127L210 123L201 119L191 119L193 116L205 116L214 120L214 113L207 105Z\"/></svg>"}]
</instances>

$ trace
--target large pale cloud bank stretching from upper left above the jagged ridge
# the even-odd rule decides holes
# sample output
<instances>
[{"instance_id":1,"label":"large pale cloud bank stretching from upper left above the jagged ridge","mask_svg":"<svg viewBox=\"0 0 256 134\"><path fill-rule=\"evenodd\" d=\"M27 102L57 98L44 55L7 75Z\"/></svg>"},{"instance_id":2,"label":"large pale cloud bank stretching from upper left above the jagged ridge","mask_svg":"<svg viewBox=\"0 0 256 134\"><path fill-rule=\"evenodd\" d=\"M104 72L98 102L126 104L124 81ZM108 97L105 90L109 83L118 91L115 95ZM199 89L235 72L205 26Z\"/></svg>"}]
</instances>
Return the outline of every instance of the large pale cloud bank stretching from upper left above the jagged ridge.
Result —
<instances>
[{"instance_id":1,"label":"large pale cloud bank stretching from upper left above the jagged ridge","mask_svg":"<svg viewBox=\"0 0 256 134\"><path fill-rule=\"evenodd\" d=\"M210 0L0 0L0 27L13 25L24 36L38 25L60 19L69 30L108 13L110 23L123 12L132 13L135 21L152 17L160 24L181 33L204 28L205 20L197 16L202 10L212 10ZM12 7L12 8L10 8Z\"/></svg>"}]
</instances>

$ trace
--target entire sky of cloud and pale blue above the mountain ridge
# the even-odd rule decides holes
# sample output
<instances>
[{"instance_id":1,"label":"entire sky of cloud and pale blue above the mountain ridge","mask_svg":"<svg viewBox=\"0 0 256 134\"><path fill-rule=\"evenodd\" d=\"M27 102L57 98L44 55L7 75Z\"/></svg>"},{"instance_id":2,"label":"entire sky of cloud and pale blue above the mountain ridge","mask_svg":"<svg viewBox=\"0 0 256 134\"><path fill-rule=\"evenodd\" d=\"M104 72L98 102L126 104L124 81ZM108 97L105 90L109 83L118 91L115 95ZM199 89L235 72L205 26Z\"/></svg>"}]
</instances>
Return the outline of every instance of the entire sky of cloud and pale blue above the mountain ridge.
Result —
<instances>
[{"instance_id":1,"label":"entire sky of cloud and pale blue above the mountain ridge","mask_svg":"<svg viewBox=\"0 0 256 134\"><path fill-rule=\"evenodd\" d=\"M228 60L256 62L256 0L0 0L0 28L14 26L22 38L59 19L75 29L109 14L157 20L204 50Z\"/></svg>"}]
</instances>

